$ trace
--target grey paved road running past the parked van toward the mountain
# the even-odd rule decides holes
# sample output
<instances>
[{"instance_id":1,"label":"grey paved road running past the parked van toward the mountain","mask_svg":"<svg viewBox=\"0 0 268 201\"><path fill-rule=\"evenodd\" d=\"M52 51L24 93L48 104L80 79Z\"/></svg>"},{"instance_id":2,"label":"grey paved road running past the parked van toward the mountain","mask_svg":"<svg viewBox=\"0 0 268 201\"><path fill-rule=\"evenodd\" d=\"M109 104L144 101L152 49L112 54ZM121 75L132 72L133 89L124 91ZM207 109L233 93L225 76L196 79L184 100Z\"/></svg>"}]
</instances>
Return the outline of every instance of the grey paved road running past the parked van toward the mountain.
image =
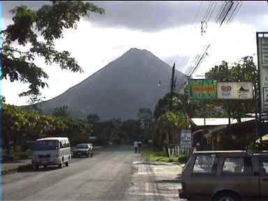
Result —
<instances>
[{"instance_id":1,"label":"grey paved road running past the parked van toward the mountain","mask_svg":"<svg viewBox=\"0 0 268 201\"><path fill-rule=\"evenodd\" d=\"M132 147L108 147L92 158L75 158L69 168L7 174L2 178L3 200L166 200L133 192L133 186L146 183L141 178L135 182L133 161L141 157Z\"/></svg>"}]
</instances>

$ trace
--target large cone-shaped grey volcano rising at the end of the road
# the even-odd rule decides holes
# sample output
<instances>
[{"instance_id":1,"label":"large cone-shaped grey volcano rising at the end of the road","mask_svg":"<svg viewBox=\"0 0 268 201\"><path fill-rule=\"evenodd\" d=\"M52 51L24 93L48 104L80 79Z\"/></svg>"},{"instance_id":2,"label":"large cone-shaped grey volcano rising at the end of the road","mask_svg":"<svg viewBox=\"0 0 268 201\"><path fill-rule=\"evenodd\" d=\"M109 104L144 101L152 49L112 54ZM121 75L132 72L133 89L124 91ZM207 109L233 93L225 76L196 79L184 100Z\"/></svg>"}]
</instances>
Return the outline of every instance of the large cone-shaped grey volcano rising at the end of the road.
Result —
<instances>
[{"instance_id":1,"label":"large cone-shaped grey volcano rising at the end of the road","mask_svg":"<svg viewBox=\"0 0 268 201\"><path fill-rule=\"evenodd\" d=\"M105 119L137 119L141 107L154 111L157 101L170 90L172 68L147 50L131 48L86 80L49 101L39 103L45 113L68 105L74 117L98 114ZM176 70L179 84L186 76ZM161 86L158 82L161 80Z\"/></svg>"}]
</instances>

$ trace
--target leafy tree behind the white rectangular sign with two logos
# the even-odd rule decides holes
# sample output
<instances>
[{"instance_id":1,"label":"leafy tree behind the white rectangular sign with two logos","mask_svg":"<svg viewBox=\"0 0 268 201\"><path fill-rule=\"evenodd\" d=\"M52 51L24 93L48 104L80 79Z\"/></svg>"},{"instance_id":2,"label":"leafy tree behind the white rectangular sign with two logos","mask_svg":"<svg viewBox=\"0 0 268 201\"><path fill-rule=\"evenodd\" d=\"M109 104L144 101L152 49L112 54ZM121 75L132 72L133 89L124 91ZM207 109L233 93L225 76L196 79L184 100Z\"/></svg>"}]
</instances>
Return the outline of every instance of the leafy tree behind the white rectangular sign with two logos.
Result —
<instances>
[{"instance_id":1,"label":"leafy tree behind the white rectangular sign with two logos","mask_svg":"<svg viewBox=\"0 0 268 201\"><path fill-rule=\"evenodd\" d=\"M228 66L228 63L223 61L221 65L211 68L205 76L218 82L253 82L255 96L257 96L258 77L253 57L243 57L241 62L234 63L232 66ZM232 117L238 122L241 122L241 117L245 117L246 113L255 112L255 98L252 100L217 100L212 101L212 104L223 107L225 116L230 107Z\"/></svg>"}]
</instances>

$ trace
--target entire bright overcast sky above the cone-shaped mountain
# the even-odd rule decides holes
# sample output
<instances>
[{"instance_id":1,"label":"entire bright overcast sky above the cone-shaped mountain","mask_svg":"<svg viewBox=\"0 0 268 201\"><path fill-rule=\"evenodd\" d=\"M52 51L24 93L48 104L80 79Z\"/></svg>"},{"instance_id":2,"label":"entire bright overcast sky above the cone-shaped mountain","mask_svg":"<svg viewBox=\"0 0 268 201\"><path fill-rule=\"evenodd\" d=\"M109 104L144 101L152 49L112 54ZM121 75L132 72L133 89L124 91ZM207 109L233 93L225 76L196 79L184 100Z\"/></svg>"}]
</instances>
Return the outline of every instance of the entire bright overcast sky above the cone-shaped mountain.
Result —
<instances>
[{"instance_id":1,"label":"entire bright overcast sky above the cone-shaped mountain","mask_svg":"<svg viewBox=\"0 0 268 201\"><path fill-rule=\"evenodd\" d=\"M187 72L195 64L197 54L211 43L208 56L195 75L202 75L221 61L238 61L256 54L256 31L267 31L267 1L241 1L241 8L228 25L219 28L214 23L223 1L213 1L211 16L207 18L206 33L201 36L201 21L209 8L209 1L91 1L105 9L105 15L91 13L78 23L77 30L64 31L57 40L58 50L68 50L77 59L84 73L69 73L55 66L45 66L50 75L49 88L42 89L45 100L62 94L66 89L86 79L131 47L146 49L177 69ZM24 4L38 9L48 1L1 1L3 29L12 22L8 12ZM24 105L27 98L19 98L27 84L2 81L2 94L7 103Z\"/></svg>"}]
</instances>

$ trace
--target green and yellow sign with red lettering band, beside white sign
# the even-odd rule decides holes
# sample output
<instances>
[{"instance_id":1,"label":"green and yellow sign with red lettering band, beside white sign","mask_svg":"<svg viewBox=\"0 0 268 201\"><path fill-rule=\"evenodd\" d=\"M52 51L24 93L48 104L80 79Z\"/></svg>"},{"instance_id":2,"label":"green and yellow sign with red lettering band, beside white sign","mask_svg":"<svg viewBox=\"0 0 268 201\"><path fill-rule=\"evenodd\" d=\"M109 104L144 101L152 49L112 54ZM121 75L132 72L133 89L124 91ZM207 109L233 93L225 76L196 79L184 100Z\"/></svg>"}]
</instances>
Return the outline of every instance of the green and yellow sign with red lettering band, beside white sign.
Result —
<instances>
[{"instance_id":1,"label":"green and yellow sign with red lettering band, beside white sign","mask_svg":"<svg viewBox=\"0 0 268 201\"><path fill-rule=\"evenodd\" d=\"M217 81L211 79L190 80L189 99L213 100L217 98Z\"/></svg>"}]
</instances>

